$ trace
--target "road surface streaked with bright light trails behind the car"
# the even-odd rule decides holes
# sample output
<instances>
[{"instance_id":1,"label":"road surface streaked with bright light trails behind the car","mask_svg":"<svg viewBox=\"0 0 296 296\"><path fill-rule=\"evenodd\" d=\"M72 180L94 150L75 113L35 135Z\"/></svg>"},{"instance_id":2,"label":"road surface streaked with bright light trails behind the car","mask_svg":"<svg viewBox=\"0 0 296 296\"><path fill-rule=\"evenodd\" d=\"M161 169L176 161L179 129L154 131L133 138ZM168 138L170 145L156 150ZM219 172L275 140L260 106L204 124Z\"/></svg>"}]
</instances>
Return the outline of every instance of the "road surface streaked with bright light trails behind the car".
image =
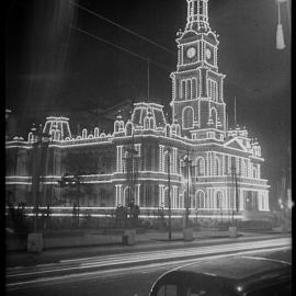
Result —
<instances>
[{"instance_id":1,"label":"road surface streaked with bright light trails behind the car","mask_svg":"<svg viewBox=\"0 0 296 296\"><path fill-rule=\"evenodd\" d=\"M255 255L291 262L291 238L183 249L96 255L58 263L7 269L7 295L144 296L177 266L228 255Z\"/></svg>"}]
</instances>

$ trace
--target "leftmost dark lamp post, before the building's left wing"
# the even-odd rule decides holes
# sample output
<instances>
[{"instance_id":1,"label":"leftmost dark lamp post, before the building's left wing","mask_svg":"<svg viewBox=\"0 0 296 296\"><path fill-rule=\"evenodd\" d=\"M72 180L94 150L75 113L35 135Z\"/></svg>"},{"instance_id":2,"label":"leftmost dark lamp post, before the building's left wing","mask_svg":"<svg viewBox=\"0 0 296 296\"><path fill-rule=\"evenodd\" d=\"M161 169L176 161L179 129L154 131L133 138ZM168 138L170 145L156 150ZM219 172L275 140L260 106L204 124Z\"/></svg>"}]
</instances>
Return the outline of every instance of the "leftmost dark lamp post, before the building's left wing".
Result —
<instances>
[{"instance_id":1,"label":"leftmost dark lamp post, before the building's left wing","mask_svg":"<svg viewBox=\"0 0 296 296\"><path fill-rule=\"evenodd\" d=\"M32 147L33 147L33 150L32 150L33 152L32 195L33 195L34 207L35 207L34 231L37 231L39 185L41 185L41 175L43 174L43 168L44 168L43 156L45 155L48 148L48 145L50 141L50 135L43 133L42 125L39 125L38 128L33 126L31 128L31 133L33 136L32 137L32 141L33 141L32 144Z\"/></svg>"}]
</instances>

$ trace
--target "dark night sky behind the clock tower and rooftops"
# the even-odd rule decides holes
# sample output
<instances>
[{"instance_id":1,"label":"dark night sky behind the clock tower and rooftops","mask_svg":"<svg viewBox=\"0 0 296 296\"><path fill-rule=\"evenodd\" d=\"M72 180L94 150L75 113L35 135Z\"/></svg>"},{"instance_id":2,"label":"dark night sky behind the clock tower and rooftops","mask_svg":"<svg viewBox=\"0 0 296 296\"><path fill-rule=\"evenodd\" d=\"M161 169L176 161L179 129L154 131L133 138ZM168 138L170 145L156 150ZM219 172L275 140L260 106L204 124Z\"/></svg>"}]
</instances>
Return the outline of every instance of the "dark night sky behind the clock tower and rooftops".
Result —
<instances>
[{"instance_id":1,"label":"dark night sky behind the clock tower and rooftops","mask_svg":"<svg viewBox=\"0 0 296 296\"><path fill-rule=\"evenodd\" d=\"M167 49L68 0L7 2L5 102L18 117L20 134L48 115L104 109L126 99L146 100L145 59L151 60L150 101L168 106L169 76L177 66L175 33L186 23L185 0L79 1ZM226 75L229 123L234 123L236 96L238 124L261 144L263 178L271 180L272 186L282 173L291 138L291 31L286 9L282 8L287 46L277 50L274 0L209 0L210 27L220 42L219 71Z\"/></svg>"}]
</instances>

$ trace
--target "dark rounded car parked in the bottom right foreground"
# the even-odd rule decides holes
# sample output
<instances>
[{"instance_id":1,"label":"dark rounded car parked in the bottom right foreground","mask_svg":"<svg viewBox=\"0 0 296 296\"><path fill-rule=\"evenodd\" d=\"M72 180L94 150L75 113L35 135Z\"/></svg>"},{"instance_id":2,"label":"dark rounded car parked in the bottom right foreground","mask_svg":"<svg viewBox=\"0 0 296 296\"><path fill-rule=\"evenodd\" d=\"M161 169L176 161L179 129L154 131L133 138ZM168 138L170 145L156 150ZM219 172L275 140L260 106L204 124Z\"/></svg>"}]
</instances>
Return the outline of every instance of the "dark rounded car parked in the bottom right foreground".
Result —
<instances>
[{"instance_id":1,"label":"dark rounded car parked in the bottom right foreground","mask_svg":"<svg viewBox=\"0 0 296 296\"><path fill-rule=\"evenodd\" d=\"M287 296L291 263L237 255L187 264L161 275L150 296Z\"/></svg>"}]
</instances>

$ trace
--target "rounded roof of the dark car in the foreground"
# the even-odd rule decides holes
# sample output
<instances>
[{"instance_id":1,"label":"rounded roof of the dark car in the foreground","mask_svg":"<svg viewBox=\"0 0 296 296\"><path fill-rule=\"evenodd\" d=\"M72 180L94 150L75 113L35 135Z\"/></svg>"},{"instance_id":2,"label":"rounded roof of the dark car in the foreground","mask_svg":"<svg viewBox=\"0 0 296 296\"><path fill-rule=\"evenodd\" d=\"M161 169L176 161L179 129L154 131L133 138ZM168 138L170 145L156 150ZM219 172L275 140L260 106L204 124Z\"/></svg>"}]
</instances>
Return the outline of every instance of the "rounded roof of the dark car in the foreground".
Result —
<instances>
[{"instance_id":1,"label":"rounded roof of the dark car in the foreground","mask_svg":"<svg viewBox=\"0 0 296 296\"><path fill-rule=\"evenodd\" d=\"M198 263L192 263L178 269L181 272L192 272L228 280L243 280L258 275L272 276L287 271L289 262L255 257L228 257Z\"/></svg>"}]
</instances>

